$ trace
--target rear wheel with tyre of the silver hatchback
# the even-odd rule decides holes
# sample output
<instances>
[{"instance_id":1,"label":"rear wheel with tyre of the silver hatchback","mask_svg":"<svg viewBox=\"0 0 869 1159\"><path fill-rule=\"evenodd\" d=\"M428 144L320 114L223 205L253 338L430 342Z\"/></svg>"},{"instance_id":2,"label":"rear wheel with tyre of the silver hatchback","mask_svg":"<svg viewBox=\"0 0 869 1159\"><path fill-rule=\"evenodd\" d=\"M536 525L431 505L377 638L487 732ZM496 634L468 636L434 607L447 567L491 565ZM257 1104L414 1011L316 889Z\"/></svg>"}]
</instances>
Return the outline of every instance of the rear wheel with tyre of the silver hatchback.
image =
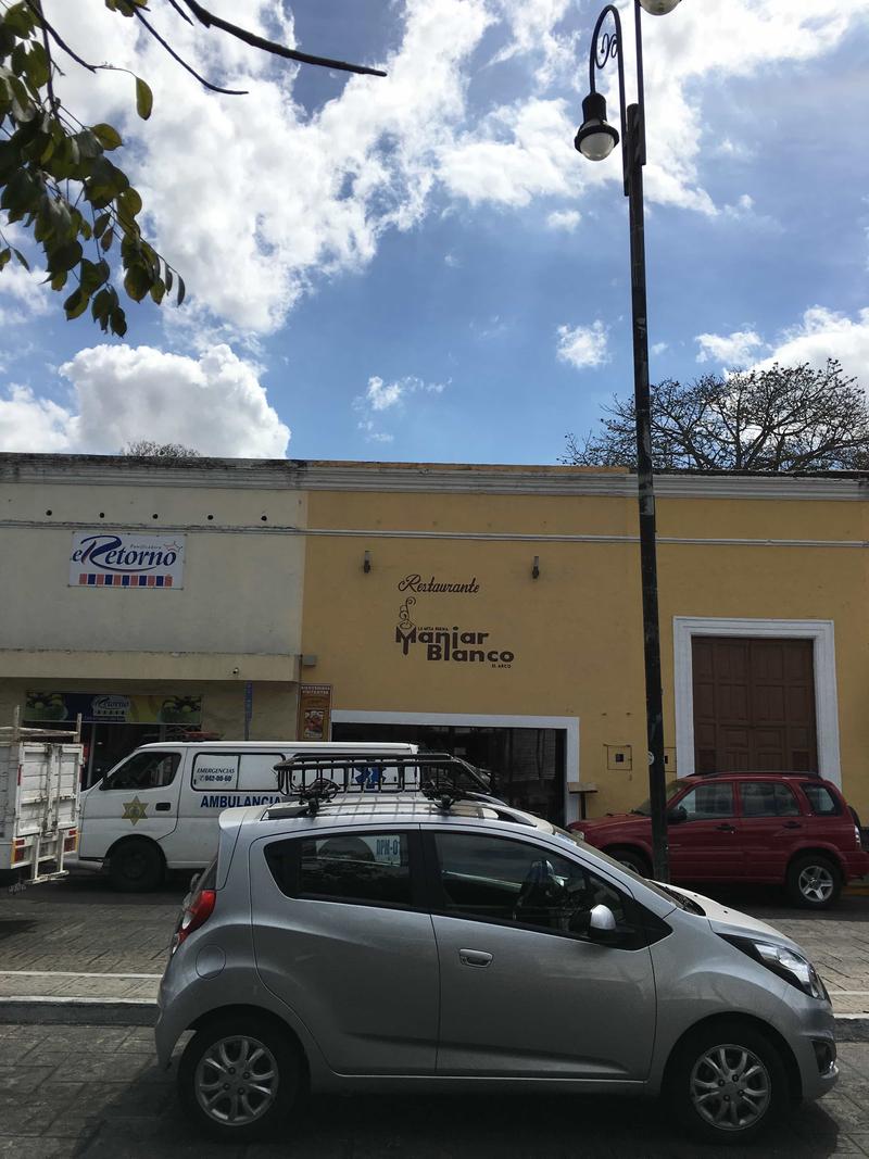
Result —
<instances>
[{"instance_id":1,"label":"rear wheel with tyre of the silver hatchback","mask_svg":"<svg viewBox=\"0 0 869 1159\"><path fill-rule=\"evenodd\" d=\"M178 1066L178 1093L212 1137L243 1143L280 1125L301 1086L299 1056L264 1019L233 1014L197 1030Z\"/></svg>"}]
</instances>

